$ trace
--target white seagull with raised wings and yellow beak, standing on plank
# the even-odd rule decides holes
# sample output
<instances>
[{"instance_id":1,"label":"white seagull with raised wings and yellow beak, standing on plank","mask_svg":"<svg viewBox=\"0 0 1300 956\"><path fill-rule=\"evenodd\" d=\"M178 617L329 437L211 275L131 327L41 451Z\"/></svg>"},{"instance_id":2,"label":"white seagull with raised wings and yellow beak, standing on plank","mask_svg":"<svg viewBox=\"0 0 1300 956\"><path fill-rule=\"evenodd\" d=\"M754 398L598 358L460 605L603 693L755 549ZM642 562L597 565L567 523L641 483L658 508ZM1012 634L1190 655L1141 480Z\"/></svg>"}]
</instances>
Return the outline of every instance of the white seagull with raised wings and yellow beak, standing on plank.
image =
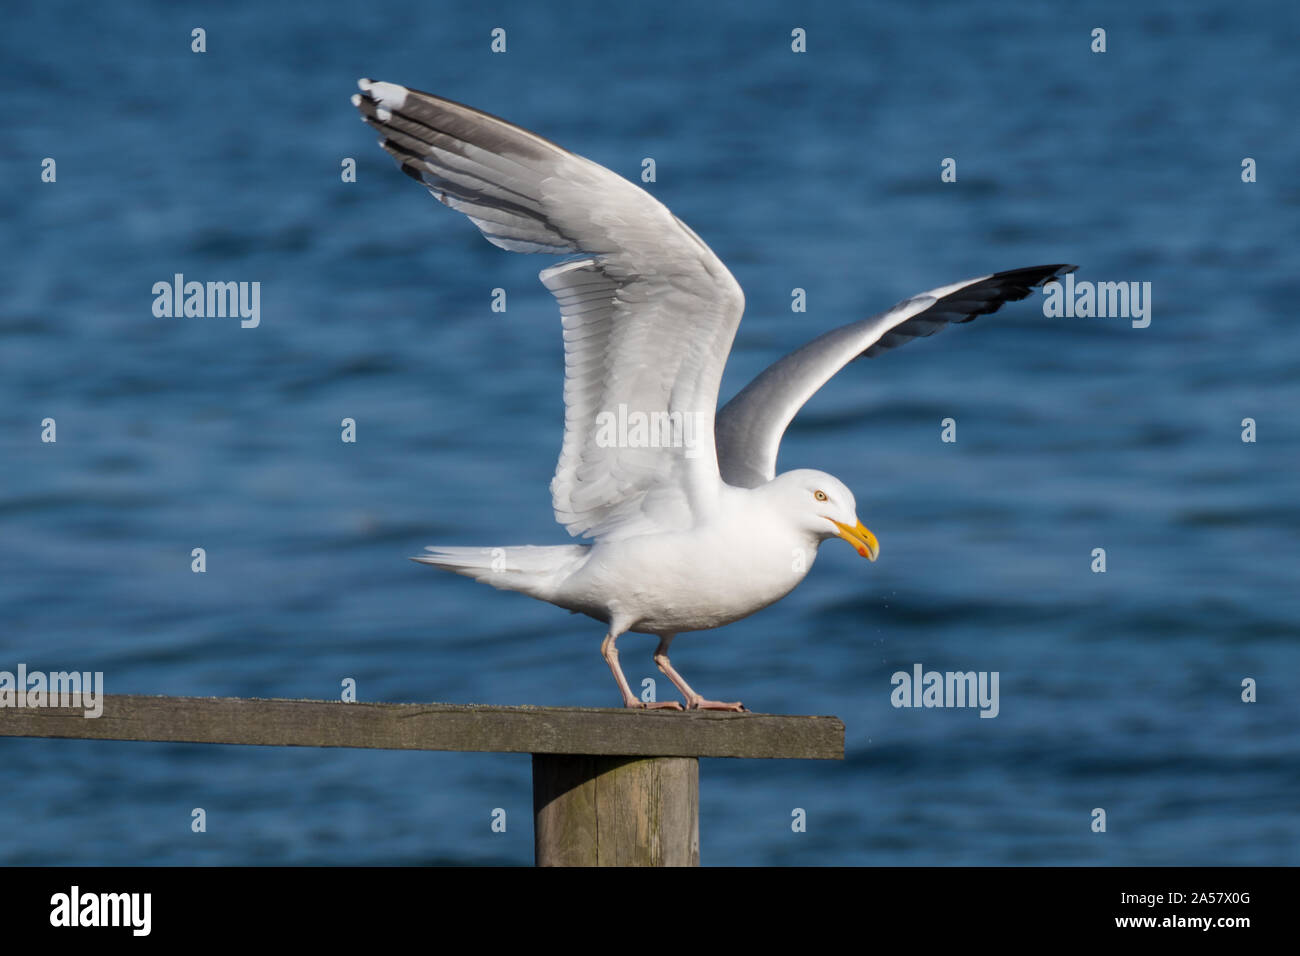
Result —
<instances>
[{"instance_id":1,"label":"white seagull with raised wings and yellow beak, standing on plank","mask_svg":"<svg viewBox=\"0 0 1300 956\"><path fill-rule=\"evenodd\" d=\"M718 411L745 297L663 203L592 160L489 113L395 83L359 81L352 105L402 172L495 246L567 256L542 269L564 328L564 437L555 519L578 542L428 548L413 558L586 614L627 708L642 701L618 639L659 639L654 661L688 710L707 700L668 659L681 632L749 617L794 589L831 537L875 561L849 488L823 471L776 473L798 410L849 362L872 358L1075 269L1039 265L954 282L827 332ZM651 695L653 696L653 695Z\"/></svg>"}]
</instances>

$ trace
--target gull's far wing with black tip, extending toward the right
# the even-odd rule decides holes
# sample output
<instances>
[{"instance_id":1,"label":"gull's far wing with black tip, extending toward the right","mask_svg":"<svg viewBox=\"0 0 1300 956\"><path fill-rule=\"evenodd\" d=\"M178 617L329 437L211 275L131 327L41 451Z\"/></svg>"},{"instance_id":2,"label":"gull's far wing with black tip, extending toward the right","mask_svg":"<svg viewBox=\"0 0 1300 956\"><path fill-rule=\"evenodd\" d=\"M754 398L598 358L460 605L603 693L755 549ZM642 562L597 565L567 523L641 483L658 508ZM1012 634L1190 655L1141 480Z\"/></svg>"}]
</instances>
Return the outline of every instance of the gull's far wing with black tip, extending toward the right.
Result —
<instances>
[{"instance_id":1,"label":"gull's far wing with black tip, extending toward the right","mask_svg":"<svg viewBox=\"0 0 1300 956\"><path fill-rule=\"evenodd\" d=\"M888 312L833 329L768 365L718 412L718 464L731 485L754 488L776 477L781 436L803 403L846 364L932 336L949 323L968 323L996 312L1004 302L1074 265L1036 265L932 289L904 299Z\"/></svg>"}]
</instances>

